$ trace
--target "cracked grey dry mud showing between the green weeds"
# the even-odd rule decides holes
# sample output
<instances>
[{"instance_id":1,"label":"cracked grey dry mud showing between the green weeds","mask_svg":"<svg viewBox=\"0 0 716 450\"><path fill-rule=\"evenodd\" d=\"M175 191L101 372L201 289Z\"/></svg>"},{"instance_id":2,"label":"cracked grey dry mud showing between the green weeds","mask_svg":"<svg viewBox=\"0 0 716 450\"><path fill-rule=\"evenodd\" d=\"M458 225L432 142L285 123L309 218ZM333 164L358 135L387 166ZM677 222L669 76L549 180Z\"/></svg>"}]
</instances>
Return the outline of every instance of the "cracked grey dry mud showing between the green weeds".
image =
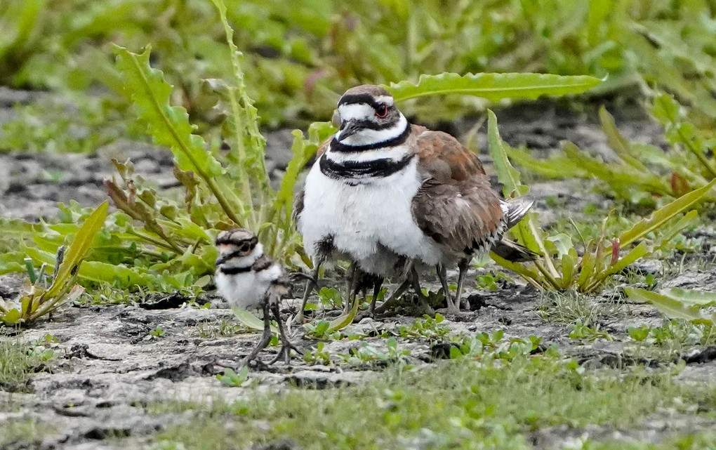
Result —
<instances>
[{"instance_id":1,"label":"cracked grey dry mud showing between the green weeds","mask_svg":"<svg viewBox=\"0 0 716 450\"><path fill-rule=\"evenodd\" d=\"M559 140L569 139L609 158L606 139L593 115L574 114L545 103L502 110L498 120L503 138L513 145L526 142L536 150L548 150L556 148ZM644 117L632 114L619 120L617 116L617 123L630 139L662 144L654 142L654 136L659 136L657 125ZM473 120L463 120L453 125L450 131L462 134L473 124ZM280 131L269 133L268 137L272 161L269 167L272 176L278 178L286 164L290 134ZM478 136L478 143L483 148L481 158L489 162L484 150L484 135ZM115 143L92 156L10 153L0 155L0 168L6 171L0 174L0 183L4 183L0 185L0 191L4 193L0 200L0 216L30 220L41 216L51 218L57 214L57 201L74 199L88 206L99 203L105 199L102 181L112 173L111 156L132 158L137 173L147 174L160 188L175 187L170 155L150 145ZM49 172L56 176L47 176ZM579 216L587 203L609 206L608 198L579 186L584 183L558 181L533 186L536 209L543 213L543 220L555 217L546 206L548 196L563 198L574 216ZM704 232L714 240L712 231ZM467 279L475 279L475 274L475 271L470 272ZM454 280L456 273L451 272L450 277ZM0 296L14 297L22 282L23 279L16 275L1 276ZM701 269L689 269L667 283L674 287L714 291L716 265L702 264ZM428 279L426 284L437 290L434 279ZM300 289L297 290L300 294ZM451 332L474 334L504 330L508 337L540 336L543 345L556 345L562 353L576 357L590 368L629 362L625 361L630 358L629 349L622 342L628 341L627 327L662 322L662 317L652 307L621 305L619 313L600 323L601 329L615 340L598 339L588 343L570 339L566 325L543 320L538 310L544 300L534 289L503 282L499 290L491 292L478 292L469 286L465 295L472 296L475 311L459 322L445 320L441 325L447 325ZM209 309L195 305L151 310L140 305L62 307L52 320L41 320L19 335L24 341L43 340L44 336L52 335L57 340L52 344L56 362L51 373L41 372L33 376L29 393L0 391L0 402L12 406L0 410L5 411L0 412L0 422L9 418L37 418L54 424L54 433L37 446L27 444L27 448L142 448L156 431L186 420L181 414L147 413L148 404L178 399L211 401L219 397L231 401L245 396L246 390L226 388L215 375L222 373L224 368L235 368L255 345L258 333L240 327L231 310L215 296L209 295L207 300L212 303ZM609 303L610 300L598 297L594 302ZM298 299L287 300L283 305L284 313L295 311L299 304ZM371 336L379 334L380 330L397 330L400 325L410 325L414 320L414 317L405 316L366 319L350 325L346 332ZM233 332L222 332L222 323L231 324ZM163 336L151 335L157 327L164 331ZM316 344L299 330L294 330L293 340L303 349ZM324 351L332 355L348 353L363 343L384 350L386 340L365 337L332 341L325 344ZM407 358L417 367L431 364L436 354L435 343L424 338L398 337L398 343L401 350L410 350ZM261 353L261 357L269 360L277 350L277 347L270 347ZM695 349L688 353L687 362L677 380L716 383L715 349ZM294 359L290 367L274 365L253 371L252 377L258 380L261 390L281 390L286 386L321 389L362 383L379 374L379 370L379 366L309 365ZM630 429L608 426L570 429L563 426L540 429L530 437L536 448L551 449L584 433L589 433L592 439L626 436L657 441L677 432L712 429L714 426L716 423L706 418L693 421L657 413ZM115 439L120 437L123 439ZM14 448L25 447L18 444Z\"/></svg>"}]
</instances>

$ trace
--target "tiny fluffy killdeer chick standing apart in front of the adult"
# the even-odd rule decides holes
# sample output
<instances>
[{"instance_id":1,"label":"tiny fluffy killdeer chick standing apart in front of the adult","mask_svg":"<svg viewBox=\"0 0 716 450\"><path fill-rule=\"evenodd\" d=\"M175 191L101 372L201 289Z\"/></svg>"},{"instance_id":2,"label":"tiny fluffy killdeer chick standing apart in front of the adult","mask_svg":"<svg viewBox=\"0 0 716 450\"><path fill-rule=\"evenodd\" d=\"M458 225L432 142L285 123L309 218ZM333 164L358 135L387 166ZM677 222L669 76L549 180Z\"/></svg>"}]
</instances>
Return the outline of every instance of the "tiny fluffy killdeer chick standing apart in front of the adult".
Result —
<instances>
[{"instance_id":1,"label":"tiny fluffy killdeer chick standing apart in front of the adult","mask_svg":"<svg viewBox=\"0 0 716 450\"><path fill-rule=\"evenodd\" d=\"M271 342L271 318L279 324L281 350L271 363L284 358L289 363L291 350L302 354L290 341L281 320L279 302L289 293L289 280L279 264L263 254L263 247L251 231L232 229L216 237L219 257L216 259L216 287L230 305L243 309L263 310L263 335L256 348L241 361L248 365Z\"/></svg>"}]
</instances>

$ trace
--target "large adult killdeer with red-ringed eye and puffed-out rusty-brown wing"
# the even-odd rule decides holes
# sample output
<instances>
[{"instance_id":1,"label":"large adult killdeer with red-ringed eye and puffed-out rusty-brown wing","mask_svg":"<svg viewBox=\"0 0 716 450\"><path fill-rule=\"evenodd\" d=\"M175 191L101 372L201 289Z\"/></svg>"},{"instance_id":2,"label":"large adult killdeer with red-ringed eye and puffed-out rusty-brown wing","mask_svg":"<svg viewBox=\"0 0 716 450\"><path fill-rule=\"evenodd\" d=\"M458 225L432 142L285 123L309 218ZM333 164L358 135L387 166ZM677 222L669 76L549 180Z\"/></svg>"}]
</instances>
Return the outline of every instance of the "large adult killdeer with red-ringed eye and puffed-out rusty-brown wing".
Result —
<instances>
[{"instance_id":1,"label":"large adult killdeer with red-ringed eye and puffed-out rusty-brown wing","mask_svg":"<svg viewBox=\"0 0 716 450\"><path fill-rule=\"evenodd\" d=\"M416 265L436 267L448 312L456 313L473 255L498 244L509 259L533 259L528 249L502 241L532 203L500 200L477 155L453 136L411 125L378 86L347 90L337 115L339 131L319 149L296 201L314 275L321 262L337 257L380 277L407 263L411 274L399 288L405 289L410 282L417 287ZM457 304L445 279L445 268L455 263Z\"/></svg>"}]
</instances>

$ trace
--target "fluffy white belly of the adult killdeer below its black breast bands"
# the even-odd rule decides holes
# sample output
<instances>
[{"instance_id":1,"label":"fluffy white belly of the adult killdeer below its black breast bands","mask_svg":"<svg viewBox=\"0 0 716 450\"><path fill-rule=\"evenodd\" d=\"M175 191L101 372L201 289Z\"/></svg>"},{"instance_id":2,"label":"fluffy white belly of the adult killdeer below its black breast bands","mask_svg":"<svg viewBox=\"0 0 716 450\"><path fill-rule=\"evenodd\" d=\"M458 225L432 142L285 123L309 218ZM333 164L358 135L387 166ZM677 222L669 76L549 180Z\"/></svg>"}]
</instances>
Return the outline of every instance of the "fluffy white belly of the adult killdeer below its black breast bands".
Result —
<instances>
[{"instance_id":1,"label":"fluffy white belly of the adult killdeer below its black breast bands","mask_svg":"<svg viewBox=\"0 0 716 450\"><path fill-rule=\"evenodd\" d=\"M316 161L306 178L299 218L306 252L315 257L316 244L333 236L339 251L372 273L389 275L384 258L376 257L379 244L409 259L437 264L440 250L412 219L412 198L421 183L417 158L402 171L357 186L325 176Z\"/></svg>"}]
</instances>

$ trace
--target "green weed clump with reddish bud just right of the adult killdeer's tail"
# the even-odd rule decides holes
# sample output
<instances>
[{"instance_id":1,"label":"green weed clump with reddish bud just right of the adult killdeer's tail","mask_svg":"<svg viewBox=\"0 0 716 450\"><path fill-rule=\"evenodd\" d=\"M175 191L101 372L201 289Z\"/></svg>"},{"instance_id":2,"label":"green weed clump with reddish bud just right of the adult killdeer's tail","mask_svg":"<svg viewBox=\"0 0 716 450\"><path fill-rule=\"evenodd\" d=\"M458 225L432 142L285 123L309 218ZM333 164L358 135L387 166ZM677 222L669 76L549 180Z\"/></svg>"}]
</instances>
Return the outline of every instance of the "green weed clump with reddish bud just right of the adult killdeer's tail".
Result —
<instances>
[{"instance_id":1,"label":"green weed clump with reddish bud just right of the adult killdeer's tail","mask_svg":"<svg viewBox=\"0 0 716 450\"><path fill-rule=\"evenodd\" d=\"M488 143L505 197L526 195L529 188L521 183L520 173L508 158L514 149L500 138L497 119L491 111L488 111ZM513 270L540 289L598 292L611 276L666 246L682 230L697 224L698 215L693 208L710 195L715 184L716 180L713 180L687 191L616 236L606 235L608 218L604 219L601 234L596 239L581 243L581 254L571 236L563 233L548 236L541 228L538 216L531 213L511 232L521 244L541 257L527 264L509 262L495 254L492 257L502 267Z\"/></svg>"}]
</instances>

